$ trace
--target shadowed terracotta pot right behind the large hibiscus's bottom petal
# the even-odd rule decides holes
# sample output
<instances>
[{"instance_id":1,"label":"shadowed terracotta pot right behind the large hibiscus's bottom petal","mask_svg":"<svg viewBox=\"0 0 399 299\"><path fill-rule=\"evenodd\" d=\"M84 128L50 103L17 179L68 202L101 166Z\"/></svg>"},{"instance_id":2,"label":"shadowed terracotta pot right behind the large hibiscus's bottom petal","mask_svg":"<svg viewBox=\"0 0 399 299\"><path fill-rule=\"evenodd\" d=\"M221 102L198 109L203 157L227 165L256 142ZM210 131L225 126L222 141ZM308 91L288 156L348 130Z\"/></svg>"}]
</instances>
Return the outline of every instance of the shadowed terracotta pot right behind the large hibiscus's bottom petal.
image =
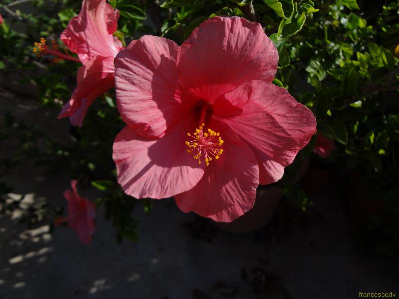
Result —
<instances>
[{"instance_id":1,"label":"shadowed terracotta pot right behind the large hibiscus's bottom petal","mask_svg":"<svg viewBox=\"0 0 399 299\"><path fill-rule=\"evenodd\" d=\"M233 233L253 232L270 222L283 191L277 186L261 186L256 191L256 200L253 208L233 222L214 222L214 224L225 231Z\"/></svg>"}]
</instances>

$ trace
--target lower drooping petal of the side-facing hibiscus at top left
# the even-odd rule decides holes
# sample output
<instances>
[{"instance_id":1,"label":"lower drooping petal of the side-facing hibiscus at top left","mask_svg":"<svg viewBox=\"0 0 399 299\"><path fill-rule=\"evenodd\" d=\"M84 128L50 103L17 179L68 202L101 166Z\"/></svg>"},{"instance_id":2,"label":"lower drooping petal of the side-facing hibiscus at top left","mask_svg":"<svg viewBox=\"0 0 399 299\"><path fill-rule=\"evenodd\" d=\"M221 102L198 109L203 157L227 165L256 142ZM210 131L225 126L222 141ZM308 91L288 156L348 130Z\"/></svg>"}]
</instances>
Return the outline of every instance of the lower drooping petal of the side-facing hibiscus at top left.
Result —
<instances>
[{"instance_id":1,"label":"lower drooping petal of the side-facing hibiscus at top left","mask_svg":"<svg viewBox=\"0 0 399 299\"><path fill-rule=\"evenodd\" d=\"M78 86L58 118L68 117L75 126L82 126L87 109L93 101L114 86L112 57L96 57L78 71Z\"/></svg>"}]
</instances>

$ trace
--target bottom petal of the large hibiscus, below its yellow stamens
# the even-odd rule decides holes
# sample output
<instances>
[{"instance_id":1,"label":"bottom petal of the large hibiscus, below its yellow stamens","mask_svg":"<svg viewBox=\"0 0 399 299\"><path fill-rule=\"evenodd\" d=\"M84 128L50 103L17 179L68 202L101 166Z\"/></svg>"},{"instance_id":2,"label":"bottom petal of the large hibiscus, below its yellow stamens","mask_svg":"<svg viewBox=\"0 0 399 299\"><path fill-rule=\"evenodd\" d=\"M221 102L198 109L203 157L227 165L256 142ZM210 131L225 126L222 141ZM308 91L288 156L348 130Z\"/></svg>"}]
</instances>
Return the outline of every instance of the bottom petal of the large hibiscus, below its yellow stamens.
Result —
<instances>
[{"instance_id":1,"label":"bottom petal of the large hibiscus, below its yellow stamens","mask_svg":"<svg viewBox=\"0 0 399 299\"><path fill-rule=\"evenodd\" d=\"M194 188L175 195L183 212L231 222L253 207L259 185L255 155L245 143L232 138L225 138L223 150L223 155L210 163Z\"/></svg>"}]
</instances>

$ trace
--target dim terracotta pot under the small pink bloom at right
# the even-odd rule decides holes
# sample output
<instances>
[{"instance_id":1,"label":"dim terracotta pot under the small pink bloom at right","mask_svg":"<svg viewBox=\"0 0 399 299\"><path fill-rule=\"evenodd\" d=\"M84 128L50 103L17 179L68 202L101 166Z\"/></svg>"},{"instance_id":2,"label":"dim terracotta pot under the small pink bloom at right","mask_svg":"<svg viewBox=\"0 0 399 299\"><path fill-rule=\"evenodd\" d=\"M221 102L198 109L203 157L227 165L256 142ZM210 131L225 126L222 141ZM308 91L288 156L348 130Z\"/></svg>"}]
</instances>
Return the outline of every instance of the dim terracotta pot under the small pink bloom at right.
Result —
<instances>
[{"instance_id":1,"label":"dim terracotta pot under the small pink bloom at right","mask_svg":"<svg viewBox=\"0 0 399 299\"><path fill-rule=\"evenodd\" d=\"M334 168L322 169L310 166L300 184L307 195L318 196L326 191L336 172Z\"/></svg>"}]
</instances>

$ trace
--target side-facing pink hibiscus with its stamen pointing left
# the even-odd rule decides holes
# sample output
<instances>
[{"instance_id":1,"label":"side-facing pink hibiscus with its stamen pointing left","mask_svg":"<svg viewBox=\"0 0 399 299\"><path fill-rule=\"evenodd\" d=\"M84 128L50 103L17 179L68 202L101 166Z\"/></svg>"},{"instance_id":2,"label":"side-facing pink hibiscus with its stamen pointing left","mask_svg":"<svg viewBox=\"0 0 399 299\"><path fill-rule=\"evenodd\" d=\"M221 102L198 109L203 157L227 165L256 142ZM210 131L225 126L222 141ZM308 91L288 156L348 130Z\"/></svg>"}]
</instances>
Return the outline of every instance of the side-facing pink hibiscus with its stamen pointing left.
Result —
<instances>
[{"instance_id":1,"label":"side-facing pink hibiscus with its stamen pointing left","mask_svg":"<svg viewBox=\"0 0 399 299\"><path fill-rule=\"evenodd\" d=\"M112 35L117 29L118 18L119 11L105 0L83 1L79 15L71 19L61 34L61 40L79 59L62 53L55 43L52 47L47 46L44 38L35 44L35 52L83 63L77 74L77 88L59 118L69 117L73 125L82 126L91 103L114 86L114 58L123 48Z\"/></svg>"}]
</instances>

